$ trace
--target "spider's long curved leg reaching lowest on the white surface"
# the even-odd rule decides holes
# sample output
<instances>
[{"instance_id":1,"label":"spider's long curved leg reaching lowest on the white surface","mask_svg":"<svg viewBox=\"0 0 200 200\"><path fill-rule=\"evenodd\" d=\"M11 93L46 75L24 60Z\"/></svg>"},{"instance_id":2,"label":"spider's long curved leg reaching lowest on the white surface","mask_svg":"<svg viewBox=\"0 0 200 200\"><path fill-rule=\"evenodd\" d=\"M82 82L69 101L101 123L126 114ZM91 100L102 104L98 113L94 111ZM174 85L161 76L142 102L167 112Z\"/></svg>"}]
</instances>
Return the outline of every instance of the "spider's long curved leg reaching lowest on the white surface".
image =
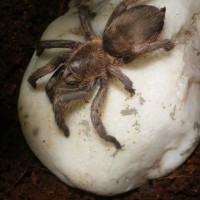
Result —
<instances>
[{"instance_id":1,"label":"spider's long curved leg reaching lowest on the white surface","mask_svg":"<svg viewBox=\"0 0 200 200\"><path fill-rule=\"evenodd\" d=\"M91 120L95 129L104 140L113 143L117 149L121 149L121 144L117 141L117 139L114 136L107 134L100 118L100 107L104 102L107 90L108 90L108 81L105 79L100 80L100 88L91 105Z\"/></svg>"}]
</instances>

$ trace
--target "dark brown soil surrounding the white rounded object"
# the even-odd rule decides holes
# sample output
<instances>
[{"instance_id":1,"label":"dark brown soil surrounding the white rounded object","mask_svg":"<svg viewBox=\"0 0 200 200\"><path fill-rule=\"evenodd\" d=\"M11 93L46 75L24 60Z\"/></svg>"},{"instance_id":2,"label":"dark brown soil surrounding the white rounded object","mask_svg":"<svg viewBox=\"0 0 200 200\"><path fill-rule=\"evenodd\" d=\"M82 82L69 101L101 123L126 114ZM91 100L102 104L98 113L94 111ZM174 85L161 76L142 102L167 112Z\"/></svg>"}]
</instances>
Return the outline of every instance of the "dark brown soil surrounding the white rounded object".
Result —
<instances>
[{"instance_id":1,"label":"dark brown soil surrounding the white rounded object","mask_svg":"<svg viewBox=\"0 0 200 200\"><path fill-rule=\"evenodd\" d=\"M17 116L20 82L46 26L67 9L65 0L0 3L0 199L2 200L197 200L200 147L178 170L117 197L99 197L68 187L33 155Z\"/></svg>"}]
</instances>

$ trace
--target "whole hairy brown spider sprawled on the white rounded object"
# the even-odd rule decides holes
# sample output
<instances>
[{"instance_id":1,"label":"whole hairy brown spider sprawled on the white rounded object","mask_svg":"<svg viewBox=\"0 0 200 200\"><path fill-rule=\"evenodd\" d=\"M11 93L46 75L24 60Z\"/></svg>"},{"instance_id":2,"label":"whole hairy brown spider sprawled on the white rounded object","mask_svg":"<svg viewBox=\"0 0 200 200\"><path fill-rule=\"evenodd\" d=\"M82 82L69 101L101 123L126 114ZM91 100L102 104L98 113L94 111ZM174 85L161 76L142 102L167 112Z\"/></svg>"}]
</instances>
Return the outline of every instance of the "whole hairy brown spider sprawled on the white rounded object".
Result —
<instances>
[{"instance_id":1,"label":"whole hairy brown spider sprawled on the white rounded object","mask_svg":"<svg viewBox=\"0 0 200 200\"><path fill-rule=\"evenodd\" d=\"M55 121L68 137L70 131L65 124L65 110L72 104L87 97L99 85L91 104L91 120L98 134L106 141L121 149L120 142L107 134L100 117L101 105L105 99L110 77L118 79L130 93L135 94L132 81L122 73L120 66L135 57L164 48L174 47L168 39L158 40L165 18L166 8L150 5L135 5L139 0L123 0L109 17L102 37L93 31L89 19L93 16L87 6L78 9L79 19L86 41L44 40L37 47L37 55L45 48L68 48L45 66L36 70L28 82L36 88L36 81L54 72L45 90L52 103Z\"/></svg>"}]
</instances>

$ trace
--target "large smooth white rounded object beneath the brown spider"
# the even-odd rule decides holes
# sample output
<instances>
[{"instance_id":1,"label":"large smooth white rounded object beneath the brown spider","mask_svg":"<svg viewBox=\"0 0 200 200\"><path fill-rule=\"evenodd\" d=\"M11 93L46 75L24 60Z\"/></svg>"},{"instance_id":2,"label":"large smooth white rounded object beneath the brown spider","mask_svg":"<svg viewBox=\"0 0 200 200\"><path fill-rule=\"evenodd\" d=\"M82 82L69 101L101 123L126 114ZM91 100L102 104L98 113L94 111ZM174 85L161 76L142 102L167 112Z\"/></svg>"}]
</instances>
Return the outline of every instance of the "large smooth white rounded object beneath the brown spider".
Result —
<instances>
[{"instance_id":1,"label":"large smooth white rounded object beneath the brown spider","mask_svg":"<svg viewBox=\"0 0 200 200\"><path fill-rule=\"evenodd\" d=\"M91 0L96 12L92 27L101 34L120 1ZM200 138L200 1L142 1L166 7L163 39L175 48L146 54L122 67L133 81L136 94L130 97L117 80L110 81L102 108L102 121L110 135L123 145L116 150L100 138L90 120L90 105L96 91L66 112L70 137L54 120L44 87L51 74L27 82L63 49L33 55L19 95L19 118L26 141L41 162L66 184L101 195L115 195L162 177L193 152ZM139 1L140 3L140 1ZM83 41L73 1L68 13L52 22L42 39Z\"/></svg>"}]
</instances>

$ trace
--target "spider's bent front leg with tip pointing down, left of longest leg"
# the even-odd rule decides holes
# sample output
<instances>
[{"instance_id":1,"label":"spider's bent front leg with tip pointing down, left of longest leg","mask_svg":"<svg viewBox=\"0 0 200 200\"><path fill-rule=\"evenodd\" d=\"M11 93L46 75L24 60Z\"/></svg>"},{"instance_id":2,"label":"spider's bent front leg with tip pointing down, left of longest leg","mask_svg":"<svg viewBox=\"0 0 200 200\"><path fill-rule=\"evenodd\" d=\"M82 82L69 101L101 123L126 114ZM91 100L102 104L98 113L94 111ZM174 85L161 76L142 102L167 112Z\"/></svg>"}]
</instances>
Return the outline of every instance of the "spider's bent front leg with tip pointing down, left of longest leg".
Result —
<instances>
[{"instance_id":1,"label":"spider's bent front leg with tip pointing down, left of longest leg","mask_svg":"<svg viewBox=\"0 0 200 200\"><path fill-rule=\"evenodd\" d=\"M59 97L53 100L53 111L58 127L64 132L66 137L69 137L70 131L65 124L65 110L71 106L72 103L78 101L88 95L89 91L75 91L71 93L62 93Z\"/></svg>"}]
</instances>

